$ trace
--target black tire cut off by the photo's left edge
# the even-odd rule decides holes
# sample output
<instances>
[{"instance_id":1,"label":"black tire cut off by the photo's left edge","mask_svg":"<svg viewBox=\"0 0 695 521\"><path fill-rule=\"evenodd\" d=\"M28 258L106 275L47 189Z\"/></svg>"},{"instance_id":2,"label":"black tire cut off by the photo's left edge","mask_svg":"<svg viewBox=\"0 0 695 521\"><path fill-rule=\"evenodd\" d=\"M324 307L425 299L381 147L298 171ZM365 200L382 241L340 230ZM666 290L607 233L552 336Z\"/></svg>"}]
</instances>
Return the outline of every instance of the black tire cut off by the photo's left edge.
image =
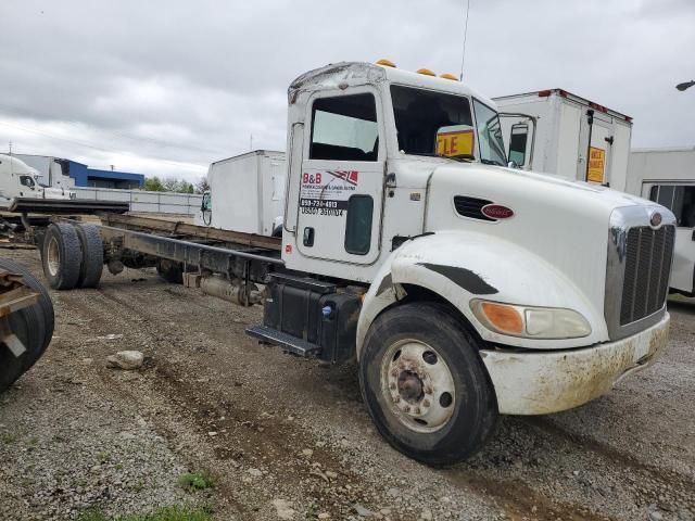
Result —
<instances>
[{"instance_id":1,"label":"black tire cut off by the photo's left edge","mask_svg":"<svg viewBox=\"0 0 695 521\"><path fill-rule=\"evenodd\" d=\"M5 346L0 345L0 392L12 385L41 357L53 336L53 304L41 284L26 267L9 259L0 258L0 268L22 275L24 283L39 293L38 302L29 307L10 314L5 319L10 330L24 344L26 351L15 357Z\"/></svg>"}]
</instances>

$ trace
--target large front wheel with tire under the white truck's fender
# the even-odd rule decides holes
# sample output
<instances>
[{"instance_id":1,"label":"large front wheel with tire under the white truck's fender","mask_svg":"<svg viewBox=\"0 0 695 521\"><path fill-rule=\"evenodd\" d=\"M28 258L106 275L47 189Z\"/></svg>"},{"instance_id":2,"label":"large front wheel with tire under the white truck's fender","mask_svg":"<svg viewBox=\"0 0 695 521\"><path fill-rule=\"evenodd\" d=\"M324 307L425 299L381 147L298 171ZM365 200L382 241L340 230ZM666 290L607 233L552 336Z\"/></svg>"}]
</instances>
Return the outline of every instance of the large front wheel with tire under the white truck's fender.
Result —
<instances>
[{"instance_id":1,"label":"large front wheel with tire under the white truck's fender","mask_svg":"<svg viewBox=\"0 0 695 521\"><path fill-rule=\"evenodd\" d=\"M434 467L470 457L496 425L494 389L476 340L434 303L377 317L359 359L359 387L381 435Z\"/></svg>"}]
</instances>

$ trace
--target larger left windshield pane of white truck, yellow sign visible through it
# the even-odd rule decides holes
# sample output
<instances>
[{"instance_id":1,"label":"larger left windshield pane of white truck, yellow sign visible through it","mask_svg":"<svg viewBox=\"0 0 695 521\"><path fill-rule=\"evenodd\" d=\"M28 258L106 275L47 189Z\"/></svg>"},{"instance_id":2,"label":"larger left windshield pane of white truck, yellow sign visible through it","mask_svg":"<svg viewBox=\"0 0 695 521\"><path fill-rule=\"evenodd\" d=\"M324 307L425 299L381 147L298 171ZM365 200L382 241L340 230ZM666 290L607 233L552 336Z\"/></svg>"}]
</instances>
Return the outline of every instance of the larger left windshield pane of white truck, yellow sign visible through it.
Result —
<instances>
[{"instance_id":1,"label":"larger left windshield pane of white truck, yellow sign visible through it","mask_svg":"<svg viewBox=\"0 0 695 521\"><path fill-rule=\"evenodd\" d=\"M467 98L392 85L391 99L401 152L473 157L473 123Z\"/></svg>"}]
</instances>

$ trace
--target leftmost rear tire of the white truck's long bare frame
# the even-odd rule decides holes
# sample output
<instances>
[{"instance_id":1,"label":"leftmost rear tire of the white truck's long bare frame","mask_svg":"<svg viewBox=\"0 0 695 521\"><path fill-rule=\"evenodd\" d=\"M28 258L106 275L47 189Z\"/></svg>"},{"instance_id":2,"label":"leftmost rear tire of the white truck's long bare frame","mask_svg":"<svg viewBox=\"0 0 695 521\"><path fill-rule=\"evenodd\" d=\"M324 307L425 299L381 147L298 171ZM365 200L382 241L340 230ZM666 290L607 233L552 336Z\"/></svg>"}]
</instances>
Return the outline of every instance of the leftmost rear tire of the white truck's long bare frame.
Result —
<instances>
[{"instance_id":1,"label":"leftmost rear tire of the white truck's long bare frame","mask_svg":"<svg viewBox=\"0 0 695 521\"><path fill-rule=\"evenodd\" d=\"M41 247L43 275L54 290L77 285L83 253L77 231L66 223L52 223L46 230Z\"/></svg>"}]
</instances>

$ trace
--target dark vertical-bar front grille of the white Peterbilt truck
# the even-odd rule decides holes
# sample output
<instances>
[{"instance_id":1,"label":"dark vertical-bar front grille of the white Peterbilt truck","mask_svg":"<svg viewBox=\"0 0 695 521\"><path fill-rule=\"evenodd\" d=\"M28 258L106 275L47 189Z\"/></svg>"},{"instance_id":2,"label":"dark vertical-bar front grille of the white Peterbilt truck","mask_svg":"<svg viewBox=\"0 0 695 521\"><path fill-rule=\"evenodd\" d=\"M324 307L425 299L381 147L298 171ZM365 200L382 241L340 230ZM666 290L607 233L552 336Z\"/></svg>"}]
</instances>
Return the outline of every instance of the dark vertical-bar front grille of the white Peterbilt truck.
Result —
<instances>
[{"instance_id":1,"label":"dark vertical-bar front grille of the white Peterbilt truck","mask_svg":"<svg viewBox=\"0 0 695 521\"><path fill-rule=\"evenodd\" d=\"M658 312L668 291L675 230L648 226L628 230L624 279L620 305L620 326Z\"/></svg>"}]
</instances>

